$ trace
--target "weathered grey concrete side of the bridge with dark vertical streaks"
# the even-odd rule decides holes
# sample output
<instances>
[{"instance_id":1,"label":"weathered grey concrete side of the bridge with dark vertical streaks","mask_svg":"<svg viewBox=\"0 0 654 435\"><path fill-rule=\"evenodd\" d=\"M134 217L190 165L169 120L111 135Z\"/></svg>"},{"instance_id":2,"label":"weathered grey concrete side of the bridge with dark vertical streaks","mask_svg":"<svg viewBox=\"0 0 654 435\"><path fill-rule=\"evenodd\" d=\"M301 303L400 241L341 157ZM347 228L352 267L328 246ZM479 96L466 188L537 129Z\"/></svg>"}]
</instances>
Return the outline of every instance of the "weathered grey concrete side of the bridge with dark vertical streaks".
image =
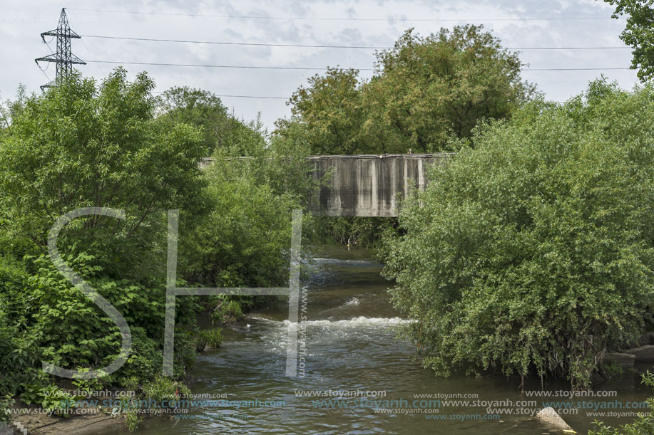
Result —
<instances>
[{"instance_id":1,"label":"weathered grey concrete side of the bridge with dark vertical streaks","mask_svg":"<svg viewBox=\"0 0 654 435\"><path fill-rule=\"evenodd\" d=\"M310 211L319 216L398 215L398 200L413 187L424 189L426 169L451 154L364 154L309 157L313 178L332 171Z\"/></svg>"}]
</instances>

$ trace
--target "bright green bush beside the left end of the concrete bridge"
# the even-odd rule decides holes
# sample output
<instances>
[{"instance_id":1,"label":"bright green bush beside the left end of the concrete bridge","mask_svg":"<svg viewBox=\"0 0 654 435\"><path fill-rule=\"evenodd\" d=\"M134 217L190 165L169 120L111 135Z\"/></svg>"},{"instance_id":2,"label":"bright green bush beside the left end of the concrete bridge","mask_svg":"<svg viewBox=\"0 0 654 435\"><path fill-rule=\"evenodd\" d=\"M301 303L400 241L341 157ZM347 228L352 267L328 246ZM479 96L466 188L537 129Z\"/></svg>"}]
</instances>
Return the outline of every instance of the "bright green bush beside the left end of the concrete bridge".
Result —
<instances>
[{"instance_id":1,"label":"bright green bush beside the left end of the concrete bridge","mask_svg":"<svg viewBox=\"0 0 654 435\"><path fill-rule=\"evenodd\" d=\"M280 139L279 142L282 142ZM283 162L280 143L270 157L222 159L204 169L208 180L210 213L180 231L180 273L187 281L210 287L275 287L287 285L292 210L302 208L308 184L295 192L276 192L284 182L276 178ZM301 157L298 157L299 159ZM297 160L293 155L290 162ZM308 167L301 162L301 171ZM288 180L300 177L296 171ZM275 179L277 183L270 180ZM308 219L305 219L305 224ZM211 298L215 318L242 318L243 309L265 297ZM270 298L268 298L270 299Z\"/></svg>"}]
</instances>

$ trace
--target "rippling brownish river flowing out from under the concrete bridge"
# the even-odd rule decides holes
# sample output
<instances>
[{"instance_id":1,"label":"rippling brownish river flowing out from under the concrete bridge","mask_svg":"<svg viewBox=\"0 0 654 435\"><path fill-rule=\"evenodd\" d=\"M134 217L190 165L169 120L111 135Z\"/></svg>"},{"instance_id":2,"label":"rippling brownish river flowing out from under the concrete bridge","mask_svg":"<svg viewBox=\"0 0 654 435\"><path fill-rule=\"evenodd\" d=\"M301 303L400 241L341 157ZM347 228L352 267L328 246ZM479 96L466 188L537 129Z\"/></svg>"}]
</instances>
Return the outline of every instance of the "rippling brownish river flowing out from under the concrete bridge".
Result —
<instances>
[{"instance_id":1,"label":"rippling brownish river flowing out from under the concrete bridge","mask_svg":"<svg viewBox=\"0 0 654 435\"><path fill-rule=\"evenodd\" d=\"M527 397L514 378L436 378L413 359L414 345L397 339L407 320L392 308L386 292L390 283L371 257L363 249L315 248L315 264L302 282L307 288L307 305L304 310L300 306L300 315L307 318L306 346L299 346L305 354L304 377L285 376L287 305L248 313L244 322L223 329L223 346L200 355L193 370L193 393L215 395L215 402L191 407L179 419L146 419L137 433L560 434L526 413L546 401L586 401L583 406L597 409L562 415L585 433L596 418L609 424L632 419L589 412L635 412L626 409L633 407L628 403L644 401L650 393L633 374L595 386L596 392L615 391L616 396L573 399ZM541 389L540 379L529 379L525 389L567 394L569 386L546 382ZM298 397L314 394L306 392L349 397ZM441 403L431 399L430 404L415 394L441 394ZM443 395L470 403L445 404ZM474 400L504 402L473 406ZM536 400L536 406L517 403L528 400ZM488 407L502 412L496 416Z\"/></svg>"}]
</instances>

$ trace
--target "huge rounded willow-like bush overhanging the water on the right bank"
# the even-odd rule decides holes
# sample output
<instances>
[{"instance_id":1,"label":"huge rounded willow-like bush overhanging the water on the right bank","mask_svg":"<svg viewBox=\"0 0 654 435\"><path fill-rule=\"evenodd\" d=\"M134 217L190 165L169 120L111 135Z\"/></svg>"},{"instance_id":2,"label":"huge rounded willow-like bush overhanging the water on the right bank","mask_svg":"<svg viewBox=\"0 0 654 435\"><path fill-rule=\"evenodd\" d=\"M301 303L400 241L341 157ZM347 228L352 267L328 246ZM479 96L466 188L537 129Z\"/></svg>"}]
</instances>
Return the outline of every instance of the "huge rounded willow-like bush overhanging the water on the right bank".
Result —
<instances>
[{"instance_id":1,"label":"huge rounded willow-like bush overhanging the water on the right bank","mask_svg":"<svg viewBox=\"0 0 654 435\"><path fill-rule=\"evenodd\" d=\"M654 90L491 122L429 173L384 242L394 304L437 374L497 367L587 387L654 300Z\"/></svg>"}]
</instances>

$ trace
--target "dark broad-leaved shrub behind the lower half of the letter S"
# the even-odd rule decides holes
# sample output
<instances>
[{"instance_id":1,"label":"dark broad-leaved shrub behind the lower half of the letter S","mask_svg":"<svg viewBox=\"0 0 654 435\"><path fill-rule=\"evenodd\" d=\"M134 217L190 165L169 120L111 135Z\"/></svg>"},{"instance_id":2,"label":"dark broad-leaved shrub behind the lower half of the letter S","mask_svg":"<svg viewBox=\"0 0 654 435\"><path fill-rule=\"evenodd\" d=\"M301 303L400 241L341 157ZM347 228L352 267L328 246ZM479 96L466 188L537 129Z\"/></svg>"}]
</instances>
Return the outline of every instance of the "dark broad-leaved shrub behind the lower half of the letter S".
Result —
<instances>
[{"instance_id":1,"label":"dark broad-leaved shrub behind the lower half of the letter S","mask_svg":"<svg viewBox=\"0 0 654 435\"><path fill-rule=\"evenodd\" d=\"M93 266L93 261L93 256L82 253L68 263L131 325L133 352L116 376L152 376L161 367L165 288L108 279L100 266ZM33 330L41 334L41 357L71 368L103 366L115 359L121 345L118 327L58 274L48 258L34 258L34 264L38 273L28 280L34 301L29 314ZM193 300L180 300L180 318L193 319L194 312ZM178 342L181 346L183 337Z\"/></svg>"}]
</instances>

